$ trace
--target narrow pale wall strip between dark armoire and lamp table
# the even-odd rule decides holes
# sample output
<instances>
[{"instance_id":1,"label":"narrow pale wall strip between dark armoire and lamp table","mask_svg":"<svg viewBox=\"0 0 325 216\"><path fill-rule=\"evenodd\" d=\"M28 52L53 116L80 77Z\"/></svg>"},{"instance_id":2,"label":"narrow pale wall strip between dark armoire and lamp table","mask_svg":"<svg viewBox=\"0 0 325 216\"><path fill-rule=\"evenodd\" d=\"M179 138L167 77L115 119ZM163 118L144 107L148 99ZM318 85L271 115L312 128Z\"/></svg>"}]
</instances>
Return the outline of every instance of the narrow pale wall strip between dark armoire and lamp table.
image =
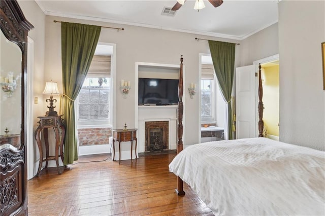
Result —
<instances>
[{"instance_id":1,"label":"narrow pale wall strip between dark armoire and lamp table","mask_svg":"<svg viewBox=\"0 0 325 216\"><path fill-rule=\"evenodd\" d=\"M35 1L18 1L25 18L34 25L34 29L28 32L28 37L34 41L34 61L27 62L27 67L32 64L32 80L27 80L27 88L32 85L33 95L30 96L32 110L27 109L27 117L31 119L31 125L27 125L27 178L32 178L37 172L39 161L39 149L34 138L37 128L38 116L43 116L46 111L46 102L43 99L44 90L44 56L45 56L45 14ZM30 49L27 47L27 49ZM27 76L28 77L28 76ZM38 97L38 104L34 104L34 98ZM26 98L28 99L28 98ZM27 102L27 104L28 104ZM32 135L31 135L32 134ZM51 161L52 162L52 161Z\"/></svg>"}]
</instances>

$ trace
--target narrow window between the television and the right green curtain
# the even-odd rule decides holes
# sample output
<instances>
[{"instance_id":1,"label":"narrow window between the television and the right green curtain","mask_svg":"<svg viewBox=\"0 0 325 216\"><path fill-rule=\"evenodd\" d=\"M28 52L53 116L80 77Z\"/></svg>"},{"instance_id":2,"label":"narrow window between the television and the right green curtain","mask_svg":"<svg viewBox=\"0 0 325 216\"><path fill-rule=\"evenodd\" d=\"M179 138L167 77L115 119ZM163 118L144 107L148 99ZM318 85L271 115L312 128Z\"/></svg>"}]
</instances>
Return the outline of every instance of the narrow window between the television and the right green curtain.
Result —
<instances>
[{"instance_id":1,"label":"narrow window between the television and the right green curtain","mask_svg":"<svg viewBox=\"0 0 325 216\"><path fill-rule=\"evenodd\" d=\"M202 64L201 120L213 121L215 116L215 76L212 64Z\"/></svg>"}]
</instances>

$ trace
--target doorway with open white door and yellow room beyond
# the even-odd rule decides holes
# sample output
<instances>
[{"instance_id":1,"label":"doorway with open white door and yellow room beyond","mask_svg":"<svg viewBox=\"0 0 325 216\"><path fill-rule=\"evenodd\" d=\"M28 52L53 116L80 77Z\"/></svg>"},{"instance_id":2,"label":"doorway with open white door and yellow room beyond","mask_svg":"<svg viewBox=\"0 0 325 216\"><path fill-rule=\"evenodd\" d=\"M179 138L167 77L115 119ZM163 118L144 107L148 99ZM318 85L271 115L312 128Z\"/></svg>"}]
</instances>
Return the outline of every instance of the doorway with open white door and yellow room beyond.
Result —
<instances>
[{"instance_id":1,"label":"doorway with open white door and yellow room beyond","mask_svg":"<svg viewBox=\"0 0 325 216\"><path fill-rule=\"evenodd\" d=\"M258 134L258 64L261 63L266 137L279 139L279 55L273 55L236 68L236 138ZM265 121L266 120L266 121Z\"/></svg>"}]
</instances>

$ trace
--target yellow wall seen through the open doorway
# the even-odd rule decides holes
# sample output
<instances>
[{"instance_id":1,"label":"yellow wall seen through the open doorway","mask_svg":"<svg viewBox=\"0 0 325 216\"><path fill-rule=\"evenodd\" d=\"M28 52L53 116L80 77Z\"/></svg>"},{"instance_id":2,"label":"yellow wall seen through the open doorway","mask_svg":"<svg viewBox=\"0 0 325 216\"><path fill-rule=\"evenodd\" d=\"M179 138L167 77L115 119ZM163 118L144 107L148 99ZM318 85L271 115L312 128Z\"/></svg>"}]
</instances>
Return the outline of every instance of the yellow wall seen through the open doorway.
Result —
<instances>
[{"instance_id":1,"label":"yellow wall seen through the open doorway","mask_svg":"<svg viewBox=\"0 0 325 216\"><path fill-rule=\"evenodd\" d=\"M262 67L263 121L268 134L279 136L279 65Z\"/></svg>"}]
</instances>

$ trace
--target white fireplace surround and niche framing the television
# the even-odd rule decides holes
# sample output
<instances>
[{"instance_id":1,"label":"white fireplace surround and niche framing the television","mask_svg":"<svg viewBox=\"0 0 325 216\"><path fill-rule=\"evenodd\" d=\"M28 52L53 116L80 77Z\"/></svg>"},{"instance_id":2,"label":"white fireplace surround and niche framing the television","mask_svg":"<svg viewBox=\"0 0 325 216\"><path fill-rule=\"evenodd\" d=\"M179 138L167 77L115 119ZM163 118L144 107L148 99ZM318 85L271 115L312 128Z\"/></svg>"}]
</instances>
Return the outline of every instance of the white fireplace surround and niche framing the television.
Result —
<instances>
[{"instance_id":1,"label":"white fireplace surround and niche framing the television","mask_svg":"<svg viewBox=\"0 0 325 216\"><path fill-rule=\"evenodd\" d=\"M139 153L150 152L150 147L147 147L148 134L146 132L146 122L167 121L169 127L165 128L164 137L158 142L164 142L164 150L176 150L177 143L177 105L139 105L139 78L152 79L179 79L179 64L161 64L150 62L136 62L136 86L135 93L135 117L136 127L138 128L138 143ZM178 93L177 93L178 95ZM185 104L185 98L183 99ZM185 113L185 110L184 110ZM184 122L183 122L184 124ZM154 134L160 133L157 129ZM155 137L155 135L154 135ZM184 140L184 134L183 134Z\"/></svg>"}]
</instances>

